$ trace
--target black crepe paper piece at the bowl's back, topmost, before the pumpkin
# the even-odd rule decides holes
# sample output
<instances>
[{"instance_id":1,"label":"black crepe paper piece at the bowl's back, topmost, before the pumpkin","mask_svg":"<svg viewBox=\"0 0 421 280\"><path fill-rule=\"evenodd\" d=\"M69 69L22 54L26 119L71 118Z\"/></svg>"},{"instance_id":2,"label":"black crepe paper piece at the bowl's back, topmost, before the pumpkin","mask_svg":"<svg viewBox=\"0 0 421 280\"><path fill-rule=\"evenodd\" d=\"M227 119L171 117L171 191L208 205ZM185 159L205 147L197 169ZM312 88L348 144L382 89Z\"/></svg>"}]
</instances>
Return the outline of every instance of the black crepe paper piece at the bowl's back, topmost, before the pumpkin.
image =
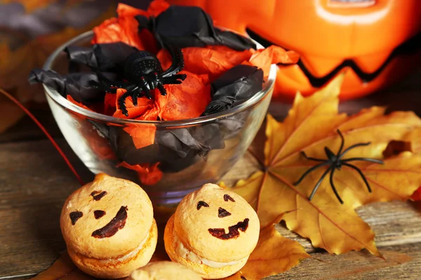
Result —
<instances>
[{"instance_id":1,"label":"black crepe paper piece at the bowl's back, topmost, before the pumpkin","mask_svg":"<svg viewBox=\"0 0 421 280\"><path fill-rule=\"evenodd\" d=\"M156 18L137 15L139 29L148 29L161 44L178 48L226 45L234 50L256 48L249 38L213 26L210 16L196 6L170 6Z\"/></svg>"}]
</instances>

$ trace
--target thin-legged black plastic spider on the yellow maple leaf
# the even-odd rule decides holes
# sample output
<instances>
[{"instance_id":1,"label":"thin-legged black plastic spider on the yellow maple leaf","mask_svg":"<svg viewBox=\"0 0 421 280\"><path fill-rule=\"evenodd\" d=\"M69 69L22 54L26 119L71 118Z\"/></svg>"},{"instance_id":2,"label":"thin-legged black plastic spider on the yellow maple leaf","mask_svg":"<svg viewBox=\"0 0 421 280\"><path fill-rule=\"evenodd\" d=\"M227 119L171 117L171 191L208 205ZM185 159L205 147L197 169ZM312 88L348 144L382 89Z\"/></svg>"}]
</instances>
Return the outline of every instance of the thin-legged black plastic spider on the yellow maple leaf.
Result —
<instances>
[{"instance_id":1,"label":"thin-legged black plastic spider on the yellow maple leaf","mask_svg":"<svg viewBox=\"0 0 421 280\"><path fill-rule=\"evenodd\" d=\"M342 142L340 144L340 148L338 151L338 154L334 154L333 151L330 150L330 148L325 147L325 153L326 156L328 157L327 160L323 160L323 159L319 159L319 158L310 158L308 157L305 152L301 152L302 155L305 156L305 158L307 158L307 160L314 160L316 162L322 162L319 165L315 165L314 167L310 168L307 170L307 172L305 172L305 174L302 174L301 178L298 179L297 182L295 182L293 185L297 186L299 183L301 183L301 181L305 178L305 176L307 176L310 172L318 169L319 167L323 167L323 166L329 166L328 169L326 169L326 171L323 173L323 175L321 176L321 178L319 179L319 181L316 183L316 186L314 187L312 194L309 196L309 200L312 200L312 198L314 197L314 194L316 193L317 189L320 187L321 182L323 182L323 179L326 177L326 175L330 172L330 186L333 189L333 193L335 193L336 197L338 197L338 200L341 204L344 204L344 202L342 201L342 199L340 198L338 191L335 188L335 184L333 183L333 174L335 172L335 169L340 170L342 165L345 165L347 167L351 167L352 169L356 170L356 172L358 172L361 176L361 178L363 179L364 183L366 183L366 186L368 188L368 192L371 193L371 188L370 188L370 184L368 183L366 176L364 176L363 172L361 172L361 169L359 169L358 167L356 167L355 165L351 165L348 162L354 161L354 160L363 160L366 162L375 162L375 163L380 163L383 164L382 160L375 160L373 158L347 158L346 160L342 160L343 156L348 153L350 150L352 150L353 148L359 147L359 146L368 146L370 145L370 142L368 143L360 143L360 144L355 144L352 146L349 146L348 148L345 149L345 151L342 152L342 149L344 148L344 144L345 144L345 139L342 135L342 133L337 130L340 138L342 139Z\"/></svg>"}]
</instances>

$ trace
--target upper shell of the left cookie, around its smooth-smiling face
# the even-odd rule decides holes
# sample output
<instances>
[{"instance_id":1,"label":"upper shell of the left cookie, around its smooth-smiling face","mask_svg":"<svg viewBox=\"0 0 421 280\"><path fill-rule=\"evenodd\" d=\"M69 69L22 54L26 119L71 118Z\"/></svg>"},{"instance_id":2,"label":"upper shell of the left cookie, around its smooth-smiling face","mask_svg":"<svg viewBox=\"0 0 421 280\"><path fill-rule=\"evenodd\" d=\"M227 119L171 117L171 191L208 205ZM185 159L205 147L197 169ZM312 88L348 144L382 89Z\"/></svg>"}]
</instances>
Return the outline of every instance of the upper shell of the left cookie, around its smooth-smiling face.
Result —
<instances>
[{"instance_id":1,"label":"upper shell of the left cookie, around its smooth-smiling face","mask_svg":"<svg viewBox=\"0 0 421 280\"><path fill-rule=\"evenodd\" d=\"M93 192L106 192L99 200ZM94 193L95 194L95 193ZM126 207L127 218L114 235L93 237L93 232L110 223L121 207ZM95 218L94 211L105 211ZM70 214L80 211L83 216L72 224ZM106 174L98 174L92 183L82 186L70 195L60 216L62 235L69 248L89 258L116 258L133 251L145 240L152 226L152 202L140 186Z\"/></svg>"}]
</instances>

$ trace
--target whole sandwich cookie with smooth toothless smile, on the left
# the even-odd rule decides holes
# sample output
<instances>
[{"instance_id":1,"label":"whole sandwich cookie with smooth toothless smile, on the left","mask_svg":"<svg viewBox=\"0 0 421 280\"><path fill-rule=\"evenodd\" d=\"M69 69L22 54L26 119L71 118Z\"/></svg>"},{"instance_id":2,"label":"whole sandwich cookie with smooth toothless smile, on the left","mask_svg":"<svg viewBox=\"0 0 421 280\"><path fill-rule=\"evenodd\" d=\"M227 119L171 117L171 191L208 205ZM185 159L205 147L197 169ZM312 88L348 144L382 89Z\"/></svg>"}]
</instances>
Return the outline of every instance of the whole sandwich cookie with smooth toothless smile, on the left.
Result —
<instances>
[{"instance_id":1,"label":"whole sandwich cookie with smooth toothless smile, on the left","mask_svg":"<svg viewBox=\"0 0 421 280\"><path fill-rule=\"evenodd\" d=\"M79 269L115 279L152 258L158 237L153 215L152 202L140 186L98 174L67 198L60 227Z\"/></svg>"}]
</instances>

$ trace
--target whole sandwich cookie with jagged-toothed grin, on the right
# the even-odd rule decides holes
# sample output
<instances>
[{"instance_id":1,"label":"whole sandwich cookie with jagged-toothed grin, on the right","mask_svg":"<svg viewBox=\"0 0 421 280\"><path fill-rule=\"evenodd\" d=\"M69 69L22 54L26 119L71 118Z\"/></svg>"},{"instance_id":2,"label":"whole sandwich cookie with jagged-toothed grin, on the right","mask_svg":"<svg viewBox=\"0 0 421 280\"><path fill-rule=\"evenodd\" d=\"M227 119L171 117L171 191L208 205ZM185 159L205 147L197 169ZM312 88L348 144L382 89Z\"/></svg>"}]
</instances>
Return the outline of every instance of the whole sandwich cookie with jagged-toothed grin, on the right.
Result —
<instances>
[{"instance_id":1,"label":"whole sandwich cookie with jagged-toothed grin, on the right","mask_svg":"<svg viewBox=\"0 0 421 280\"><path fill-rule=\"evenodd\" d=\"M171 260L205 279L234 274L258 244L258 215L243 197L214 184L187 195L166 224Z\"/></svg>"}]
</instances>

